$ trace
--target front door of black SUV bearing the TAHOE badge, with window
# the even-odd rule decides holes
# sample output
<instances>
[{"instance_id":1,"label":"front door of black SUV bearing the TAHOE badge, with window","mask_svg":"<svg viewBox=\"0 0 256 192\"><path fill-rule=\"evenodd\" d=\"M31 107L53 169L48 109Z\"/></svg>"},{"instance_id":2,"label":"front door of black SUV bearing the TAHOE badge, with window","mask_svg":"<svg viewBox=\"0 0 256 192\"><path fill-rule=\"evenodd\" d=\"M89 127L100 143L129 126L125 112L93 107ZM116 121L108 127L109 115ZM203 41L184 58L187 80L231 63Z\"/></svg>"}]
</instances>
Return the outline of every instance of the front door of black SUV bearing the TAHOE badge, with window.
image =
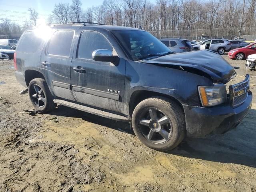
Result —
<instances>
[{"instance_id":1,"label":"front door of black SUV bearing the TAHOE badge, with window","mask_svg":"<svg viewBox=\"0 0 256 192\"><path fill-rule=\"evenodd\" d=\"M97 49L111 50L113 46L96 31L85 30L78 42L76 57L71 63L72 92L77 102L123 113L125 59L116 66L110 62L92 60Z\"/></svg>"}]
</instances>

